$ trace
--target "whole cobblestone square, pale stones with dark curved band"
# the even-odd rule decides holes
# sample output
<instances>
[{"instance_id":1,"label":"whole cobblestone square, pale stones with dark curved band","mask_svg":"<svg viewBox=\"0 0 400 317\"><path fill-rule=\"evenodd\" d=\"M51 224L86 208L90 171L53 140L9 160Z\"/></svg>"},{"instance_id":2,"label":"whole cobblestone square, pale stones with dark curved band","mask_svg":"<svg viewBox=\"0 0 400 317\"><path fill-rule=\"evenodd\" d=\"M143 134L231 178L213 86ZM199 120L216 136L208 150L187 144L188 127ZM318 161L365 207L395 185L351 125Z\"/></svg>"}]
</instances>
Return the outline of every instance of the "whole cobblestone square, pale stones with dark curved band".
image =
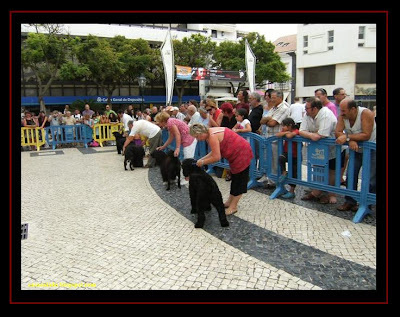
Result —
<instances>
[{"instance_id":1,"label":"whole cobblestone square, pale stones with dark curved band","mask_svg":"<svg viewBox=\"0 0 400 317\"><path fill-rule=\"evenodd\" d=\"M375 215L354 224L300 186L249 190L228 228L213 208L195 229L187 187L125 171L112 146L22 152L21 175L22 290L376 289Z\"/></svg>"}]
</instances>

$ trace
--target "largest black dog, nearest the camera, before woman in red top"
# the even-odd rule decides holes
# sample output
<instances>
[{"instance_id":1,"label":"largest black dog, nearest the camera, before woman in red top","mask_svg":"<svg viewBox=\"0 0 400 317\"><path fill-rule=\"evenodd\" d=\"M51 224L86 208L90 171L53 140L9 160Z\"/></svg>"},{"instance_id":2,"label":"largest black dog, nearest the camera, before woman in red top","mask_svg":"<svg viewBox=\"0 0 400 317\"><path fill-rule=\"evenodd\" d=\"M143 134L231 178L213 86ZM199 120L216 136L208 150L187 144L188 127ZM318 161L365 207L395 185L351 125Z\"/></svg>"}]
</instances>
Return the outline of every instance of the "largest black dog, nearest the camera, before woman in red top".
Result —
<instances>
[{"instance_id":1,"label":"largest black dog, nearest the camera, before woman in red top","mask_svg":"<svg viewBox=\"0 0 400 317\"><path fill-rule=\"evenodd\" d=\"M206 216L205 211L211 210L211 204L217 209L219 222L222 227L228 227L224 202L221 191L217 183L204 170L196 165L193 159L185 159L182 162L183 175L189 177L190 203L192 204L191 213L197 213L195 228L203 228Z\"/></svg>"}]
</instances>

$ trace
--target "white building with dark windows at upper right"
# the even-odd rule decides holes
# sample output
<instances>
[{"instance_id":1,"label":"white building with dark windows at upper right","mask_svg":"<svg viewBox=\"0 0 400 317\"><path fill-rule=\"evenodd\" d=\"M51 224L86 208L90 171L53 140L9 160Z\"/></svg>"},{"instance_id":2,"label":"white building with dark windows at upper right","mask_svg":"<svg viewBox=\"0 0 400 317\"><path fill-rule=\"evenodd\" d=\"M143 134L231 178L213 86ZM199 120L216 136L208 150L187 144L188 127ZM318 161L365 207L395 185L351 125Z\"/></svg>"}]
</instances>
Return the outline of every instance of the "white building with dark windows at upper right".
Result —
<instances>
[{"instance_id":1,"label":"white building with dark windows at upper right","mask_svg":"<svg viewBox=\"0 0 400 317\"><path fill-rule=\"evenodd\" d=\"M376 25L299 24L296 95L342 87L364 106L376 103Z\"/></svg>"}]
</instances>

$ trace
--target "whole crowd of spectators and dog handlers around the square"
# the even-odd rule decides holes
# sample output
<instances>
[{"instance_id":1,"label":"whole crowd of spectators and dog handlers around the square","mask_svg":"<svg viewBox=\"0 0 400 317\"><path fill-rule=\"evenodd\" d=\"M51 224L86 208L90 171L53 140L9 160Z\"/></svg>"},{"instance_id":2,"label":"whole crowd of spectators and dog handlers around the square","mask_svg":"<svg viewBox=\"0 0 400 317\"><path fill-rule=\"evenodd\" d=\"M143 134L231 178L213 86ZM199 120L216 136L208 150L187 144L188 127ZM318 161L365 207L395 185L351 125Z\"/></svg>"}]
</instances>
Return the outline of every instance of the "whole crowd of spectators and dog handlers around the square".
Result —
<instances>
[{"instance_id":1,"label":"whole crowd of spectators and dog handlers around the square","mask_svg":"<svg viewBox=\"0 0 400 317\"><path fill-rule=\"evenodd\" d=\"M348 144L356 151L354 179L362 165L362 152L358 146L359 141L376 142L375 114L367 108L358 106L357 103L346 95L343 88L333 91L334 102L327 98L327 91L323 88L315 90L313 97L300 103L295 98L294 104L284 101L281 91L268 89L264 96L258 92L249 93L241 90L237 94L236 103L224 102L218 107L213 98L195 100L183 103L180 107L153 107L145 111L134 111L133 106L115 112L110 105L106 105L102 114L90 109L74 113L66 106L63 112L53 111L48 117L44 112L35 117L30 112L25 112L21 117L22 126L36 126L44 128L51 125L86 124L93 128L97 123L123 123L123 133L126 136L124 148L134 140L147 140L150 151L164 150L175 140L174 155L179 156L181 146L183 157L193 158L197 141L206 140L210 152L197 160L198 166L212 164L225 158L230 165L226 173L226 180L231 180L230 196L225 202L226 214L230 215L238 210L238 202L247 191L249 166L253 155L251 147L240 133L253 132L266 138L270 136L293 138L300 135L312 141L322 138L336 138L337 144ZM263 100L262 100L263 97ZM161 140L161 129L167 129L169 137L164 144ZM244 141L243 141L244 140ZM297 148L292 143L293 177L297 177ZM329 183L334 185L336 157L334 147L329 153ZM348 149L343 146L342 152L342 182L345 184L343 172L348 160ZM371 182L370 192L375 192L376 179L376 153L371 151ZM276 173L278 164L281 176L278 182L283 182L288 175L286 163L288 162L288 148L284 143L284 152L278 158L277 141L272 144L272 172ZM146 167L154 167L155 161L148 160ZM184 178L182 177L182 180ZM274 188L276 184L271 179L264 179L266 188ZM184 181L183 181L184 183ZM357 186L354 182L353 186ZM288 184L289 190L283 193L282 198L295 197L295 184ZM346 202L338 206L341 211L356 210L357 202L351 197L345 197ZM334 193L324 193L313 190L302 197L302 200L314 200L320 203L336 204Z\"/></svg>"}]
</instances>

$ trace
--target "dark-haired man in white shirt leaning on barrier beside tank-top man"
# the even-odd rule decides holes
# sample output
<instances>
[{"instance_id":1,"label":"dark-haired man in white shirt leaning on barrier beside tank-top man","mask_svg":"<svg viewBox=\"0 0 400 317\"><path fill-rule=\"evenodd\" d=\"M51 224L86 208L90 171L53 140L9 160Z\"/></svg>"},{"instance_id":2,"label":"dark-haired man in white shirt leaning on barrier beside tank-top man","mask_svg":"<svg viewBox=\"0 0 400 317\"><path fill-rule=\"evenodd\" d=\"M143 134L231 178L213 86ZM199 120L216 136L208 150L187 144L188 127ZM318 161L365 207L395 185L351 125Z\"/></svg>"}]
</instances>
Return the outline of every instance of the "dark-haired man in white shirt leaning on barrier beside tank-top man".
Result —
<instances>
[{"instance_id":1,"label":"dark-haired man in white shirt leaning on barrier beside tank-top man","mask_svg":"<svg viewBox=\"0 0 400 317\"><path fill-rule=\"evenodd\" d=\"M327 107L323 107L321 100L310 97L306 100L306 116L300 125L300 136L312 141L319 141L322 138L334 138L337 119L334 113ZM344 156L341 160L344 164ZM335 147L329 149L329 184L335 185ZM334 193L328 193L328 197L322 195L321 190L314 189L304 195L301 200L317 200L320 203L335 204L337 202Z\"/></svg>"}]
</instances>

